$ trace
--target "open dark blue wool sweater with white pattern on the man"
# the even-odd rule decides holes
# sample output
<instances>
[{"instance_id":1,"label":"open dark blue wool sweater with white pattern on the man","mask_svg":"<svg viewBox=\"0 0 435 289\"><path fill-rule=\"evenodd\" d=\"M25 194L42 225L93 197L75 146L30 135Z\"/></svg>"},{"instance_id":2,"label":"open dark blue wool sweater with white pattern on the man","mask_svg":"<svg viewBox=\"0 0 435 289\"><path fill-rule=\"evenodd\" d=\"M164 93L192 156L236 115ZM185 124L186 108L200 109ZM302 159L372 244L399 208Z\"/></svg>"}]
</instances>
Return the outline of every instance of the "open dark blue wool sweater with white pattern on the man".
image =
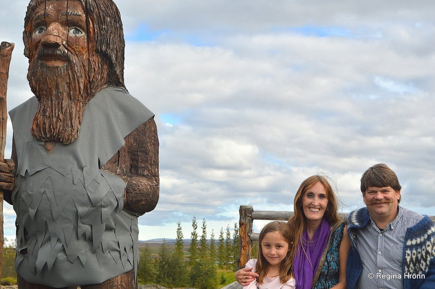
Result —
<instances>
[{"instance_id":1,"label":"open dark blue wool sweater with white pattern on the man","mask_svg":"<svg viewBox=\"0 0 435 289\"><path fill-rule=\"evenodd\" d=\"M411 214L417 213L402 208ZM403 288L435 288L435 225L428 216L406 230L403 244ZM347 288L353 289L360 278L363 264L355 247L355 230L370 223L367 208L355 210L348 215L348 235L351 242L346 265Z\"/></svg>"}]
</instances>

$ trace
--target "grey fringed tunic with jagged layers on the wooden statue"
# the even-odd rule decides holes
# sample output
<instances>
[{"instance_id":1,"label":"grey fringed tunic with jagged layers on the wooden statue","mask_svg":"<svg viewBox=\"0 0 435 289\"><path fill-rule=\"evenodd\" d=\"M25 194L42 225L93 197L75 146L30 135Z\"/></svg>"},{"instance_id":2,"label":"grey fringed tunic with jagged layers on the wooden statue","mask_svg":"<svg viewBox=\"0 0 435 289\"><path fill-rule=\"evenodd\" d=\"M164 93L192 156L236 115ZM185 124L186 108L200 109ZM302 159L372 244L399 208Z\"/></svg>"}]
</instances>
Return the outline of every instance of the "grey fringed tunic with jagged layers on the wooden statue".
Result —
<instances>
[{"instance_id":1,"label":"grey fringed tunic with jagged layers on the wooden statue","mask_svg":"<svg viewBox=\"0 0 435 289\"><path fill-rule=\"evenodd\" d=\"M86 105L78 138L47 152L30 132L37 107L32 97L9 113L18 157L12 193L18 274L67 287L137 268L137 217L123 211L126 185L100 167L153 113L126 90L105 88Z\"/></svg>"}]
</instances>

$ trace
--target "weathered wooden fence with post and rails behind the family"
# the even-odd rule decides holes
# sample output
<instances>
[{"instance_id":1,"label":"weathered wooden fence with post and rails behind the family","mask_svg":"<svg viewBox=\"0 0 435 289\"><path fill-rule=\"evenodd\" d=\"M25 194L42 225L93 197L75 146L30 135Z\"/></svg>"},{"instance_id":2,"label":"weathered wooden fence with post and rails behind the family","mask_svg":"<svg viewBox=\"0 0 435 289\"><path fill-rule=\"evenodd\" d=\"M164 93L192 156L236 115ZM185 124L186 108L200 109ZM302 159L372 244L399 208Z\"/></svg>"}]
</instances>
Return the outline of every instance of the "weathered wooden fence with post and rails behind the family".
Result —
<instances>
[{"instance_id":1,"label":"weathered wooden fence with post and rails behind the family","mask_svg":"<svg viewBox=\"0 0 435 289\"><path fill-rule=\"evenodd\" d=\"M345 219L347 213L339 213ZM252 242L258 241L259 232L252 230L254 220L287 221L293 212L290 211L254 211L252 206L242 205L239 208L240 249L237 259L237 269L245 267L251 258ZM435 216L429 216L435 222Z\"/></svg>"}]
</instances>

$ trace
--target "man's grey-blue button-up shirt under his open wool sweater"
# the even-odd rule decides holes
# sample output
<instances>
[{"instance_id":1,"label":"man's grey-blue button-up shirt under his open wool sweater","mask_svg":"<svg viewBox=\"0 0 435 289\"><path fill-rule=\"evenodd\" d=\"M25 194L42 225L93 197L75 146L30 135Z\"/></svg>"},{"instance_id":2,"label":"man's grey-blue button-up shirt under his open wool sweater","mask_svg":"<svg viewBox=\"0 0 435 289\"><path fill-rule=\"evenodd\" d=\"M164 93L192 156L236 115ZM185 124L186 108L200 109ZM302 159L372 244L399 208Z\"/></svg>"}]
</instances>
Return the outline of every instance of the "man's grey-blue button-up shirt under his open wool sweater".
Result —
<instances>
[{"instance_id":1,"label":"man's grey-blue button-up shirt under his open wool sweater","mask_svg":"<svg viewBox=\"0 0 435 289\"><path fill-rule=\"evenodd\" d=\"M399 206L396 219L383 230L370 223L355 230L355 244L363 262L360 289L403 289L403 243L406 229L413 226Z\"/></svg>"}]
</instances>

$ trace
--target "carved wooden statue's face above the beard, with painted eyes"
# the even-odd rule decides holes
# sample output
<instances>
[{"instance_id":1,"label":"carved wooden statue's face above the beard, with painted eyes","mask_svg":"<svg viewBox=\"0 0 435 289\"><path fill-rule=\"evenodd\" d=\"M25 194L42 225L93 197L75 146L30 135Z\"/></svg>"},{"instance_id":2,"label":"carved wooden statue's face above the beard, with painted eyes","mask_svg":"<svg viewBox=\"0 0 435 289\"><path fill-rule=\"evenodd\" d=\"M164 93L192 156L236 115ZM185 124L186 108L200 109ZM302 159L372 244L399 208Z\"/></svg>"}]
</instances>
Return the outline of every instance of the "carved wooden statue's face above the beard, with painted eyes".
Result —
<instances>
[{"instance_id":1,"label":"carved wooden statue's face above the beard, with painted eyes","mask_svg":"<svg viewBox=\"0 0 435 289\"><path fill-rule=\"evenodd\" d=\"M87 27L91 28L89 33ZM30 59L42 61L48 66L59 66L69 62L67 52L83 59L93 46L94 32L92 23L78 0L48 0L36 8L31 19L29 41Z\"/></svg>"}]
</instances>

